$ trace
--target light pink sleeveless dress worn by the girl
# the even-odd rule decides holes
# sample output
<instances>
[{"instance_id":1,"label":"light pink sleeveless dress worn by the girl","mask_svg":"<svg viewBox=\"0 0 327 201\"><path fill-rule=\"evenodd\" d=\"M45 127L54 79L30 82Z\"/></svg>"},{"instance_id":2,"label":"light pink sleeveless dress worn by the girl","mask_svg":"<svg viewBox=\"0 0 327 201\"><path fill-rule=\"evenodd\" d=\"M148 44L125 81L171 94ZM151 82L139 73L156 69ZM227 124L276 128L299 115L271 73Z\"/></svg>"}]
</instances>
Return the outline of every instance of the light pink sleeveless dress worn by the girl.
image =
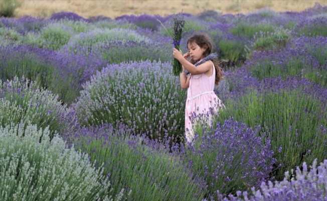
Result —
<instances>
[{"instance_id":1,"label":"light pink sleeveless dress worn by the girl","mask_svg":"<svg viewBox=\"0 0 327 201\"><path fill-rule=\"evenodd\" d=\"M192 118L195 115L205 114L210 111L210 108L215 112L225 108L214 92L216 69L213 63L212 66L214 70L210 77L202 73L191 75L190 78L185 108L185 133L188 142L191 142L194 138Z\"/></svg>"}]
</instances>

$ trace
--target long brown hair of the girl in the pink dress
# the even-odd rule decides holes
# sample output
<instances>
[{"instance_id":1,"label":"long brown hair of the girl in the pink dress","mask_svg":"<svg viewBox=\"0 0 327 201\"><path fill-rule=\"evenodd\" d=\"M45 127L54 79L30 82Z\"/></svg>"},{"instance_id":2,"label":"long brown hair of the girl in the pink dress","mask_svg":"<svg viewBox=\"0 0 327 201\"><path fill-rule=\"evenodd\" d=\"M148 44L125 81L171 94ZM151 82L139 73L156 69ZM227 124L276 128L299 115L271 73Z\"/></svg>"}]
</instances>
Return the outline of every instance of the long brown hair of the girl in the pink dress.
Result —
<instances>
[{"instance_id":1,"label":"long brown hair of the girl in the pink dress","mask_svg":"<svg viewBox=\"0 0 327 201\"><path fill-rule=\"evenodd\" d=\"M206 57L209 54L212 53L212 44L210 42L210 38L207 34L205 33L198 33L193 35L192 37L190 37L188 39L187 44L189 43L196 43L197 45L199 45L199 47L206 49L203 53L203 56ZM192 64L195 64L197 61L194 61L193 59L191 59L190 61ZM219 81L224 79L223 76L223 70L222 68L219 66L222 61L218 61L217 59L213 59L212 62L214 63L215 69L216 69L216 76L215 76L215 85L219 84Z\"/></svg>"}]
</instances>

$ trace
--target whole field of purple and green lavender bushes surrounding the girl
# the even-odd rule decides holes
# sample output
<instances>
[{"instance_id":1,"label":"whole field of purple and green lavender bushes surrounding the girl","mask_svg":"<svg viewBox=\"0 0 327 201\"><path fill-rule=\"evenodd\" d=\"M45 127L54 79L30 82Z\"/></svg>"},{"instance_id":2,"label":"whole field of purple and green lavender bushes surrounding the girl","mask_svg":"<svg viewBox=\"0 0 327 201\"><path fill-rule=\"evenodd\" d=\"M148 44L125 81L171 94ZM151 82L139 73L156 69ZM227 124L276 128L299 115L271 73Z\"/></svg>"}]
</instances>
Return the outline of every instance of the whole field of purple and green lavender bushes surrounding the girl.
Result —
<instances>
[{"instance_id":1,"label":"whole field of purple and green lavender bushes surrounding the girl","mask_svg":"<svg viewBox=\"0 0 327 201\"><path fill-rule=\"evenodd\" d=\"M327 200L327 7L184 14L225 60L192 144L172 18L0 18L0 200Z\"/></svg>"}]
</instances>

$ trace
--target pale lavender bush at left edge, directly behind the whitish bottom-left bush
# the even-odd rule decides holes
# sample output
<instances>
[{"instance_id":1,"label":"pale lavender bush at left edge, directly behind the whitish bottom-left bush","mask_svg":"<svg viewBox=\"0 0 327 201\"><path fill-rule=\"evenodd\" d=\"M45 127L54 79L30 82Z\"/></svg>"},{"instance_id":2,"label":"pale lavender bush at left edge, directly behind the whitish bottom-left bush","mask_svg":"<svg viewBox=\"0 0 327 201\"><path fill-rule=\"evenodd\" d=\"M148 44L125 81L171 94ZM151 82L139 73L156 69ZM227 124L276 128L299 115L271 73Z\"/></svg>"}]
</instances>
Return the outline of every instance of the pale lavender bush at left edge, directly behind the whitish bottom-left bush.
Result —
<instances>
[{"instance_id":1,"label":"pale lavender bush at left edge, directly behind the whitish bottom-left bush","mask_svg":"<svg viewBox=\"0 0 327 201\"><path fill-rule=\"evenodd\" d=\"M11 123L36 124L50 129L50 138L55 132L73 132L77 128L73 112L57 100L58 96L48 90L39 89L34 82L15 77L0 81L0 125Z\"/></svg>"}]
</instances>

